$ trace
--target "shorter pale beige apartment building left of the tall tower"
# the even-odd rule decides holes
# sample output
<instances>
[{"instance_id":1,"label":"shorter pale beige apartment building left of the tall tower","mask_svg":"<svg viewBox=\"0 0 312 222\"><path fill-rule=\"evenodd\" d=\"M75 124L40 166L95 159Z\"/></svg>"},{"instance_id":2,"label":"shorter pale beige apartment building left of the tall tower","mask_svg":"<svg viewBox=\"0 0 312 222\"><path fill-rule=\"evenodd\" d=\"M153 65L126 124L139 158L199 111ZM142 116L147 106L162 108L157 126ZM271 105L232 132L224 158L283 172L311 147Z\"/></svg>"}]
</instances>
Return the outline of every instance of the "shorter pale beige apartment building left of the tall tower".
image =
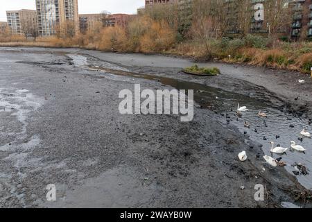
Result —
<instances>
[{"instance_id":1,"label":"shorter pale beige apartment building left of the tall tower","mask_svg":"<svg viewBox=\"0 0 312 222\"><path fill-rule=\"evenodd\" d=\"M28 35L28 30L37 28L36 10L6 11L8 27L12 35Z\"/></svg>"}]
</instances>

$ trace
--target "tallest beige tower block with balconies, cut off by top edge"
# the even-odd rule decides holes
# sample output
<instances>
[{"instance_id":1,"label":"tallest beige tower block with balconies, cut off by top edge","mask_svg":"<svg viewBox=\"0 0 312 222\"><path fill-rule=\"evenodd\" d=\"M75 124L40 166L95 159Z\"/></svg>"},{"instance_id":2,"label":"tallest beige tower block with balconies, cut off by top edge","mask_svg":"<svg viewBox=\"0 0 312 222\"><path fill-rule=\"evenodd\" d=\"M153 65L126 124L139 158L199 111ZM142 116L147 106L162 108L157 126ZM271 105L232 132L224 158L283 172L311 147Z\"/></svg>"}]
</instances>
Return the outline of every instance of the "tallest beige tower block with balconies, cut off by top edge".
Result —
<instances>
[{"instance_id":1,"label":"tallest beige tower block with balconies, cut off by top edge","mask_svg":"<svg viewBox=\"0 0 312 222\"><path fill-rule=\"evenodd\" d=\"M56 35L57 29L72 24L79 32L78 0L36 0L38 31L42 37Z\"/></svg>"}]
</instances>

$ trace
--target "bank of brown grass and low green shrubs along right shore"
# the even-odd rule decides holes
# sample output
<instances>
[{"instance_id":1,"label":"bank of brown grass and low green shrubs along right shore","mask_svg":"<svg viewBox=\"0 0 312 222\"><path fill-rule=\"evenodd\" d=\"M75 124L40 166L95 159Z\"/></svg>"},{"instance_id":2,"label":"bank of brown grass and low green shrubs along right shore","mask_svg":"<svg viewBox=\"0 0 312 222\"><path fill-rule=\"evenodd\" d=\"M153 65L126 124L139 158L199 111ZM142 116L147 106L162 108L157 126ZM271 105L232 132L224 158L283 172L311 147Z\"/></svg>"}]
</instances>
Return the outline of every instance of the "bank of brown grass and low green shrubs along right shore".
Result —
<instances>
[{"instance_id":1,"label":"bank of brown grass and low green shrubs along right shore","mask_svg":"<svg viewBox=\"0 0 312 222\"><path fill-rule=\"evenodd\" d=\"M312 67L312 42L277 42L273 47L267 39L248 36L245 39L213 40L209 49L203 45L202 42L184 42L171 49L171 53L197 60L244 62L303 73L310 73Z\"/></svg>"}]
</instances>

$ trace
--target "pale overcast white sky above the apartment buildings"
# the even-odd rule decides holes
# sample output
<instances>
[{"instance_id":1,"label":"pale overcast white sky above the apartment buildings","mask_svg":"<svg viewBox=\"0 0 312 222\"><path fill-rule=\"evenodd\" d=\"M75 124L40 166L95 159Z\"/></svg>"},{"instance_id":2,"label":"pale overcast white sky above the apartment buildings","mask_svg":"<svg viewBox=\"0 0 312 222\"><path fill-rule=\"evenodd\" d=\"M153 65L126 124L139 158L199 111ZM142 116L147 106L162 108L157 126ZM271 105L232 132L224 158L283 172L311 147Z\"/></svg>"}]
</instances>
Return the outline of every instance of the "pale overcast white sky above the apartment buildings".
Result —
<instances>
[{"instance_id":1,"label":"pale overcast white sky above the apartment buildings","mask_svg":"<svg viewBox=\"0 0 312 222\"><path fill-rule=\"evenodd\" d=\"M98 13L107 10L112 13L134 14L144 6L144 0L78 0L79 13ZM0 0L0 21L6 22L6 10L35 9L35 0Z\"/></svg>"}]
</instances>

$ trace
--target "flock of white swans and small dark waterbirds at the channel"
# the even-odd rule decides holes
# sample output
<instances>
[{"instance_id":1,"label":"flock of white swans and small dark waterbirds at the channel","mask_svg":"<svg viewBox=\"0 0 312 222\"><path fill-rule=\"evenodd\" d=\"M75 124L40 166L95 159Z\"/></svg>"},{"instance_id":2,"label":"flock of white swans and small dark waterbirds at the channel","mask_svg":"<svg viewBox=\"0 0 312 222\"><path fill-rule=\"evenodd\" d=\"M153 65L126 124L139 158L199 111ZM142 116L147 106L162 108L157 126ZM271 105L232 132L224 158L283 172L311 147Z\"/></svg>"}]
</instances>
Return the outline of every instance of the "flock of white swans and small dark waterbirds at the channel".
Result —
<instances>
[{"instance_id":1,"label":"flock of white swans and small dark waterbirds at the channel","mask_svg":"<svg viewBox=\"0 0 312 222\"><path fill-rule=\"evenodd\" d=\"M236 110L236 114L238 114L239 116L242 116L243 112L247 112L248 108L246 106L240 106L240 104L237 105L237 110ZM265 117L268 118L268 114L266 114L265 112L262 112L261 110L258 112L258 116L259 117ZM267 126L266 124L266 120L263 120L263 124ZM311 119L309 119L309 125L311 125ZM247 121L244 121L244 127L245 128L250 128L250 124ZM290 126L291 128L293 128L292 126ZM257 133L257 129L254 130L254 132ZM244 134L246 134L244 132ZM311 138L311 133L309 133L308 131L306 131L306 129L303 129L302 132L300 133L301 136L303 137L308 137ZM279 135L276 135L276 139L279 139ZM299 139L299 138L298 138ZM266 137L263 137L263 140L267 140ZM301 142L303 141L303 138L300 137L299 139ZM281 162L281 157L275 159L273 157L273 153L277 154L277 155L284 155L286 154L286 151L288 151L288 148L284 148L281 147L279 144L277 146L274 146L275 143L274 142L270 142L271 144L271 149L270 149L270 153L271 156L268 155L264 155L263 159L266 160L266 163L269 164L271 167L285 167L287 164L285 162ZM289 148L290 151L297 151L300 153L305 153L306 148L304 148L301 145L297 145L294 141L291 141L291 147ZM239 153L239 160L241 160L241 162L244 162L245 160L247 160L247 153L246 151L242 151L241 153ZM293 171L293 173L295 173L295 175L299 175L300 173L303 175L309 174L306 169L306 167L304 166L304 164L292 164L291 167L294 167L294 169L296 171Z\"/></svg>"}]
</instances>

